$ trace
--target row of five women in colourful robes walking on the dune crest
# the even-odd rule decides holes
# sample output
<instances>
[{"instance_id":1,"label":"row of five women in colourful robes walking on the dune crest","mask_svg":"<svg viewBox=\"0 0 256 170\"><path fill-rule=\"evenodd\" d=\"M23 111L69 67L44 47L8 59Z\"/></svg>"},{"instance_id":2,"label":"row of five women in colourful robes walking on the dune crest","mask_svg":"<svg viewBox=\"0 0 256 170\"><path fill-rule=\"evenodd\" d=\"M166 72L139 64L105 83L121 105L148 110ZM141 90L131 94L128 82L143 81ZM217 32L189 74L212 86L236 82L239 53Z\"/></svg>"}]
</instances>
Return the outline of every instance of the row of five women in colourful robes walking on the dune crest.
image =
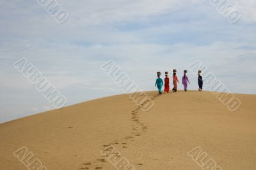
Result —
<instances>
[{"instance_id":1,"label":"row of five women in colourful robes walking on the dune crest","mask_svg":"<svg viewBox=\"0 0 256 170\"><path fill-rule=\"evenodd\" d=\"M188 71L184 70L184 75L182 77L182 84L184 86L184 91L187 91L188 89L188 84L190 84L188 76L187 76ZM173 92L177 92L178 89L178 82L179 79L177 77L177 70L174 69L173 70L173 75L172 75L172 82L173 82L173 88L172 91ZM180 82L179 82L180 83ZM161 79L161 72L157 72L157 79L156 79L156 84L155 87L157 86L158 88L158 92L159 95L162 94L162 87L164 86L164 93L169 93L170 91L170 81L169 81L169 76L168 76L168 72L165 72L165 78L164 78L164 83L163 83L163 79ZM198 91L202 91L203 90L203 77L201 75L201 71L198 71Z\"/></svg>"}]
</instances>

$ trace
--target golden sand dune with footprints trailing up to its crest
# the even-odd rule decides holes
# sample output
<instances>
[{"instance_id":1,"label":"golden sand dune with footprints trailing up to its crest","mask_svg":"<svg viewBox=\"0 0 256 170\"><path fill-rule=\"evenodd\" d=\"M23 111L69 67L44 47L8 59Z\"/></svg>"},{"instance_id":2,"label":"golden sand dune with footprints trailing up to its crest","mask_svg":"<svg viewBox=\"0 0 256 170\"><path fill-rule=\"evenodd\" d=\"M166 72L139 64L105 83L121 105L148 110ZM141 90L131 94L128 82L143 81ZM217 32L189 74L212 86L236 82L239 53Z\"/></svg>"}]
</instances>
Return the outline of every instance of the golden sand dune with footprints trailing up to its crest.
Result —
<instances>
[{"instance_id":1,"label":"golden sand dune with footprints trailing up to its crest","mask_svg":"<svg viewBox=\"0 0 256 170\"><path fill-rule=\"evenodd\" d=\"M256 95L236 95L236 112L211 92L148 95L148 112L118 95L2 123L0 169L28 169L13 155L22 146L48 169L115 169L108 145L136 169L201 169L187 155L196 146L222 169L256 169Z\"/></svg>"}]
</instances>

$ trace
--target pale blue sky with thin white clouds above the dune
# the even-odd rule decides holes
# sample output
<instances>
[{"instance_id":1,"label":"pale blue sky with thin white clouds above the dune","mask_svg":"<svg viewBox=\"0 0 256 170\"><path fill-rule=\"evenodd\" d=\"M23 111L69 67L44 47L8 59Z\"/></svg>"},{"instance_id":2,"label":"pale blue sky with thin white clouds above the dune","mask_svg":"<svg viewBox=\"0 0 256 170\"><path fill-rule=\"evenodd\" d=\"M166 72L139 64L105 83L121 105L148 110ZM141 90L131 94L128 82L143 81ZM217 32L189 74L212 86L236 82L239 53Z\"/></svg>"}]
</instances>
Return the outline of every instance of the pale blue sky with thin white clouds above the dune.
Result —
<instances>
[{"instance_id":1,"label":"pale blue sky with thin white clouds above the dune","mask_svg":"<svg viewBox=\"0 0 256 170\"><path fill-rule=\"evenodd\" d=\"M227 1L241 13L235 24L210 0L58 0L69 14L63 24L38 1L0 1L0 122L54 109L13 67L21 58L68 105L124 93L100 69L108 61L145 91L155 89L157 71L177 68L181 78L199 60L230 91L256 93L255 0Z\"/></svg>"}]
</instances>

